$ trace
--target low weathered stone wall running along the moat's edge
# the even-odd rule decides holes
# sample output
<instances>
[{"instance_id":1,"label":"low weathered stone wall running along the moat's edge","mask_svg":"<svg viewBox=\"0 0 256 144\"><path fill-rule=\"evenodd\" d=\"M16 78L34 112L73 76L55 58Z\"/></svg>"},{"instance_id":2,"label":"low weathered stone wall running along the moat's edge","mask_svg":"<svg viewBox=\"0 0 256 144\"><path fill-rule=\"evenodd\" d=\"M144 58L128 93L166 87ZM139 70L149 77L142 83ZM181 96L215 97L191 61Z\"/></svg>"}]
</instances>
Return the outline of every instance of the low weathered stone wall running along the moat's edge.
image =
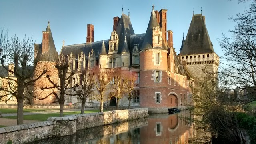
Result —
<instances>
[{"instance_id":1,"label":"low weathered stone wall running along the moat's edge","mask_svg":"<svg viewBox=\"0 0 256 144\"><path fill-rule=\"evenodd\" d=\"M148 117L147 108L49 117L46 122L0 128L0 142L23 144L51 137L68 136L78 130Z\"/></svg>"}]
</instances>

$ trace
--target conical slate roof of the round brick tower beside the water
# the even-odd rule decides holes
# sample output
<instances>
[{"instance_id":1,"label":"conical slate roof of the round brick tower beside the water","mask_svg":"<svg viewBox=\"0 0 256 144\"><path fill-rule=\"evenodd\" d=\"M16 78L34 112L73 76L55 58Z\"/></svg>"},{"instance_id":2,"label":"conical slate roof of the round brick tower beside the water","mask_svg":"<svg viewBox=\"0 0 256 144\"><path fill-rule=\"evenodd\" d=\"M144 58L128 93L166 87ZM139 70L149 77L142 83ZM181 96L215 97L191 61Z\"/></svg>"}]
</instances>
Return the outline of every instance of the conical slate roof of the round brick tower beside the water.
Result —
<instances>
[{"instance_id":1,"label":"conical slate roof of the round brick tower beside the water","mask_svg":"<svg viewBox=\"0 0 256 144\"><path fill-rule=\"evenodd\" d=\"M162 39L162 47L154 47L153 48L153 42L152 42L152 34L153 34L153 28L159 26L157 19L156 19L156 13L153 10L151 12L150 20L148 22L148 28L145 34L144 42L142 44L142 47L140 50L147 50L147 49L163 49L166 50L166 46L164 45L164 40Z\"/></svg>"}]
</instances>

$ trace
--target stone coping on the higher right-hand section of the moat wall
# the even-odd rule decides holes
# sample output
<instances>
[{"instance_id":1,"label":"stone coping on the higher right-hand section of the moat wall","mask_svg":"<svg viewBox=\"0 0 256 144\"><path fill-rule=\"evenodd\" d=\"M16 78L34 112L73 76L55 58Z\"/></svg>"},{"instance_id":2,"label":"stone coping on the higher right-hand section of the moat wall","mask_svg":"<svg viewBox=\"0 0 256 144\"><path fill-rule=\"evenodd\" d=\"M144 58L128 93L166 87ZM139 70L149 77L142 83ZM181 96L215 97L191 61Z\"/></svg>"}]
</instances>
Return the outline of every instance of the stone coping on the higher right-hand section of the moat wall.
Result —
<instances>
[{"instance_id":1,"label":"stone coping on the higher right-hand section of the moat wall","mask_svg":"<svg viewBox=\"0 0 256 144\"><path fill-rule=\"evenodd\" d=\"M134 108L134 109L128 109L128 110L112 110L112 111L106 111L106 112L93 112L93 113L87 113L87 114L74 114L74 115L66 115L64 117L49 117L48 121L66 121L66 120L76 120L78 117L85 117L85 116L97 116L97 115L104 115L104 114L116 114L118 112L133 112L138 110L148 110L148 108Z\"/></svg>"}]
</instances>

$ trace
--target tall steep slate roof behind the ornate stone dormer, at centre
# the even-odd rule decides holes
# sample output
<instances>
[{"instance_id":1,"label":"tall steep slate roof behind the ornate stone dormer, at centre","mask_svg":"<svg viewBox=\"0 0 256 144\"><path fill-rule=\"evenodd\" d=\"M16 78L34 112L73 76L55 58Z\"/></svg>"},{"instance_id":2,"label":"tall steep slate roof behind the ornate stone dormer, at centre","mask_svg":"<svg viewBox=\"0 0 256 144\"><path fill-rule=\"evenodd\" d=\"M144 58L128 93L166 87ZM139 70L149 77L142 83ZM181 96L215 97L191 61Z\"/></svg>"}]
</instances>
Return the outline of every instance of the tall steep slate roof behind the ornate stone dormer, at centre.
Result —
<instances>
[{"instance_id":1,"label":"tall steep slate roof behind the ornate stone dormer, at centre","mask_svg":"<svg viewBox=\"0 0 256 144\"><path fill-rule=\"evenodd\" d=\"M118 39L119 39L117 53L120 54L120 52L122 51L122 49L124 47L125 37L127 39L127 44L130 44L130 35L135 34L134 30L132 28L132 23L130 21L130 18L126 14L122 14L122 16L118 22L118 26L116 28L116 33L117 33Z\"/></svg>"}]
</instances>

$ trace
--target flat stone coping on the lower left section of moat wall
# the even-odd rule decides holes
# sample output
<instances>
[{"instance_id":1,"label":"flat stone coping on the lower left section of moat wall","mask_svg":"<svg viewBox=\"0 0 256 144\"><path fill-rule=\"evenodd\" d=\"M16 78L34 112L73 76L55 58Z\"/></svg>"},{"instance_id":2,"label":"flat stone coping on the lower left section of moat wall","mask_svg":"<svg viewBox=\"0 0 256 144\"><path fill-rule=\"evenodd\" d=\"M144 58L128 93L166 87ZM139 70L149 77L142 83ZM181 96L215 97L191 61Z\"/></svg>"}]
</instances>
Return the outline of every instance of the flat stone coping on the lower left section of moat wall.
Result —
<instances>
[{"instance_id":1,"label":"flat stone coping on the lower left section of moat wall","mask_svg":"<svg viewBox=\"0 0 256 144\"><path fill-rule=\"evenodd\" d=\"M42 126L50 126L50 125L53 125L52 121L35 122L31 124L21 124L17 126L8 126L8 127L0 128L0 134L6 133L6 132L14 132L18 130L25 130L30 128L38 128Z\"/></svg>"}]
</instances>

